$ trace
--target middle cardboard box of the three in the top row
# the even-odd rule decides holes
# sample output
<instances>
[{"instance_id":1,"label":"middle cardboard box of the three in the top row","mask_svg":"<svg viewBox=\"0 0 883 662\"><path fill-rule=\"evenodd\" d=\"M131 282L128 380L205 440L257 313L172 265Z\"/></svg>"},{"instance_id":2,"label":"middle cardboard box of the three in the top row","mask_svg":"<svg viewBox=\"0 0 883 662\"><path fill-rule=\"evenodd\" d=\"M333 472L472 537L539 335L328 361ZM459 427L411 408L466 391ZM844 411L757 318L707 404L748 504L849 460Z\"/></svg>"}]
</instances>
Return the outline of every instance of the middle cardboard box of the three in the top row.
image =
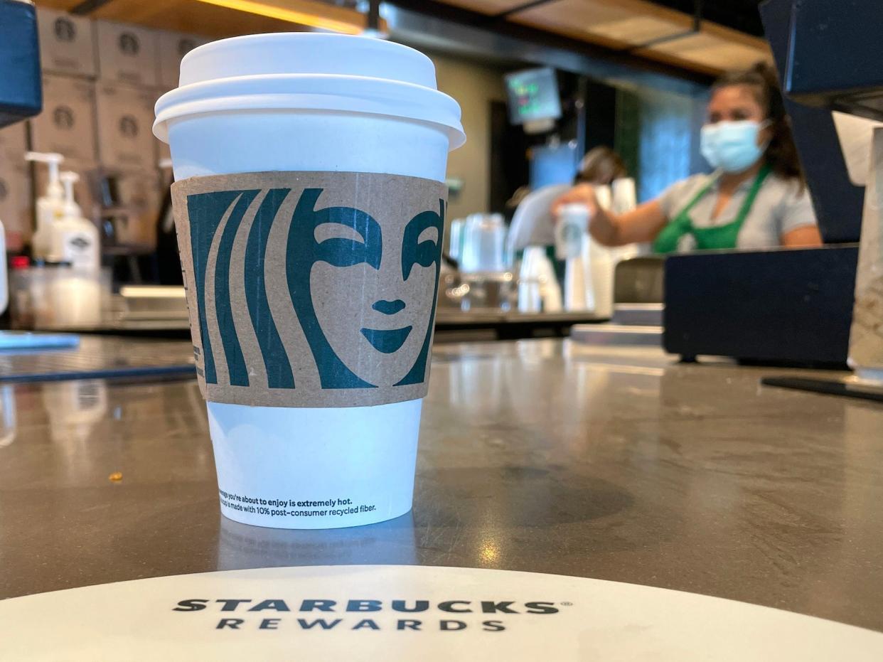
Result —
<instances>
[{"instance_id":1,"label":"middle cardboard box of the three in the top row","mask_svg":"<svg viewBox=\"0 0 883 662\"><path fill-rule=\"evenodd\" d=\"M155 30L99 20L95 44L102 80L156 87Z\"/></svg>"}]
</instances>

